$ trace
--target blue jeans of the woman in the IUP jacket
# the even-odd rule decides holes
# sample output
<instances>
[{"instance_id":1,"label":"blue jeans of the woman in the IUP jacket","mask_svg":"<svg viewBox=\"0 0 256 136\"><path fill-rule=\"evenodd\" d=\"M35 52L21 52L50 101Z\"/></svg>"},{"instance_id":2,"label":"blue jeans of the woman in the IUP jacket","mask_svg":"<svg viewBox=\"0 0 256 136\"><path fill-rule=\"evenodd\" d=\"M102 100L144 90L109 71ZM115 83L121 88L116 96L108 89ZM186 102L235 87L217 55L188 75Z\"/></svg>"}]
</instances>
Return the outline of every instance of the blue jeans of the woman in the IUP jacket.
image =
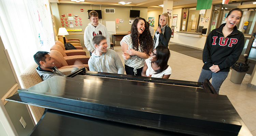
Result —
<instances>
[{"instance_id":1,"label":"blue jeans of the woman in the IUP jacket","mask_svg":"<svg viewBox=\"0 0 256 136\"><path fill-rule=\"evenodd\" d=\"M219 94L219 88L222 83L228 77L228 72L212 72L211 70L202 69L199 79L197 82L204 82L204 79L212 79L212 86L215 91Z\"/></svg>"}]
</instances>

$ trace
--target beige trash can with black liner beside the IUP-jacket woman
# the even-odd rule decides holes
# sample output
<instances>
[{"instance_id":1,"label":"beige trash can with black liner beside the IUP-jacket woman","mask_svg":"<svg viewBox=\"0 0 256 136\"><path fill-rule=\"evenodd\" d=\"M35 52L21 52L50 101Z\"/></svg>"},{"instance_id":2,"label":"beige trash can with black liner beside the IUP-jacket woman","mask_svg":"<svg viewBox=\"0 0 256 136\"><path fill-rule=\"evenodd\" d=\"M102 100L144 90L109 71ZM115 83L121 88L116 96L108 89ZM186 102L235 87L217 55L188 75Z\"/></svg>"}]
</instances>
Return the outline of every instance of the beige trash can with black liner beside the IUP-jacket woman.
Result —
<instances>
[{"instance_id":1,"label":"beige trash can with black liner beside the IUP-jacket woman","mask_svg":"<svg viewBox=\"0 0 256 136\"><path fill-rule=\"evenodd\" d=\"M241 62L236 62L233 66L232 66L232 72L231 72L231 77L230 77L230 81L232 81L235 84L241 84L244 76L246 74L246 72L249 70L249 66L247 63L247 58L248 55L244 54L245 57L245 63L241 63Z\"/></svg>"}]
</instances>

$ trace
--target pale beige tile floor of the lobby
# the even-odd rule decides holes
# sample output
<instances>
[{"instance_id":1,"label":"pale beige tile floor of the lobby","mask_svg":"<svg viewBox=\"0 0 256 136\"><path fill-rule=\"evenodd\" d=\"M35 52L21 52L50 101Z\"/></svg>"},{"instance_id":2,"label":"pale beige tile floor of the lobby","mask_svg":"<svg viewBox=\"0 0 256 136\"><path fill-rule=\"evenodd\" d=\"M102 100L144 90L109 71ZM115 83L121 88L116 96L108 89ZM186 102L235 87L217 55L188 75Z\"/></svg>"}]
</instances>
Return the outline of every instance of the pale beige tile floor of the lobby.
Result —
<instances>
[{"instance_id":1,"label":"pale beige tile floor of the lobby","mask_svg":"<svg viewBox=\"0 0 256 136\"><path fill-rule=\"evenodd\" d=\"M84 50L89 54L85 47ZM124 63L124 59L121 56L121 46L115 46L114 50L118 53ZM168 65L172 68L172 74L169 79L197 82L203 66L202 60L171 50L170 52L171 57L168 61ZM229 98L247 128L251 131L253 136L256 136L256 90L247 87L251 75L246 74L241 84L234 84L231 82L230 75L231 71L222 84L219 94L226 95Z\"/></svg>"}]
</instances>

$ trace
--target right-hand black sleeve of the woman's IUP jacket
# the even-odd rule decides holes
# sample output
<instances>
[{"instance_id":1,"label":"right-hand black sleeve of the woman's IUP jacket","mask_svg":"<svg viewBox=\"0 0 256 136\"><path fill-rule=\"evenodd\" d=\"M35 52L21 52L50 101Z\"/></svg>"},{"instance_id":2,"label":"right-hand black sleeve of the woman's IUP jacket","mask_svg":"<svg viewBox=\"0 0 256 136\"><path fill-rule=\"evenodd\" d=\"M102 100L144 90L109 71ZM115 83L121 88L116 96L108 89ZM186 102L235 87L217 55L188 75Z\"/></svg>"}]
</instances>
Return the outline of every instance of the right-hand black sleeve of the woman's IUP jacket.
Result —
<instances>
[{"instance_id":1,"label":"right-hand black sleeve of the woman's IUP jacket","mask_svg":"<svg viewBox=\"0 0 256 136\"><path fill-rule=\"evenodd\" d=\"M239 59L239 56L241 55L244 48L244 35L241 34L238 40L238 43L232 53L226 58L225 61L223 61L221 64L219 64L219 69L222 70L224 68L231 67L234 63L237 62Z\"/></svg>"}]
</instances>

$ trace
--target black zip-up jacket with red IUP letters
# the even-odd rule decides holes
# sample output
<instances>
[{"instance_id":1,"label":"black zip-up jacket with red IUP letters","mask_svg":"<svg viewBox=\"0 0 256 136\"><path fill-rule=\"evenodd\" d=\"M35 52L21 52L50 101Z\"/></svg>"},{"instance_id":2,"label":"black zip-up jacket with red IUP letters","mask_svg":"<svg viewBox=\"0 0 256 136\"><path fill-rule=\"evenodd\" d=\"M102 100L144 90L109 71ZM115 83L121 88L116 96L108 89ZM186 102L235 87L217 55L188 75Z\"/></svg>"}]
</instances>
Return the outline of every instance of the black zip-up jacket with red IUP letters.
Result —
<instances>
[{"instance_id":1,"label":"black zip-up jacket with red IUP letters","mask_svg":"<svg viewBox=\"0 0 256 136\"><path fill-rule=\"evenodd\" d=\"M203 48L203 69L210 70L212 65L218 65L220 71L229 72L230 67L237 62L244 47L244 35L234 27L227 37L222 33L222 24L208 36ZM225 39L224 39L225 38Z\"/></svg>"}]
</instances>

